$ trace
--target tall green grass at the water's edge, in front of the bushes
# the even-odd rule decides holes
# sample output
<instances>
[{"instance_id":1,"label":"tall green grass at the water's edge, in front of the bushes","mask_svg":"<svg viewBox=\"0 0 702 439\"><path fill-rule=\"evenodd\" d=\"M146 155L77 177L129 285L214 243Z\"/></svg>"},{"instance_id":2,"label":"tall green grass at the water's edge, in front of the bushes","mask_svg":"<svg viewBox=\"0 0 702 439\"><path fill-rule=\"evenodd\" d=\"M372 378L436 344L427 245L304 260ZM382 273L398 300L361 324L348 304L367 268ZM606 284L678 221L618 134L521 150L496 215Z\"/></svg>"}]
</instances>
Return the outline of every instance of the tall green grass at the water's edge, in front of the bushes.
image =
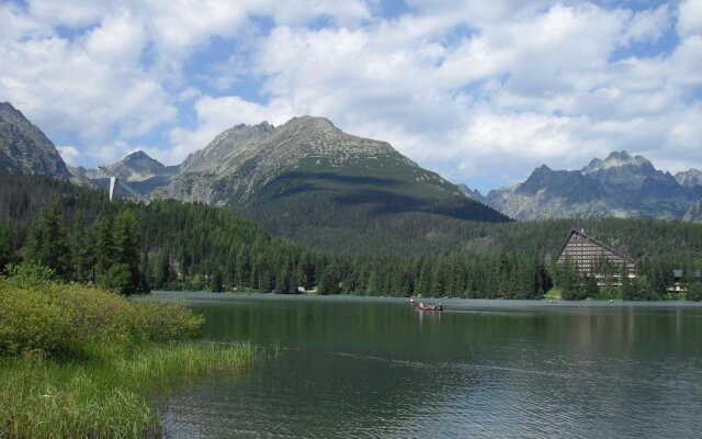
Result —
<instances>
[{"instance_id":1,"label":"tall green grass at the water's edge, in front of the bushes","mask_svg":"<svg viewBox=\"0 0 702 439\"><path fill-rule=\"evenodd\" d=\"M158 437L145 394L189 375L240 371L253 357L246 345L190 341L100 363L0 360L0 437Z\"/></svg>"}]
</instances>

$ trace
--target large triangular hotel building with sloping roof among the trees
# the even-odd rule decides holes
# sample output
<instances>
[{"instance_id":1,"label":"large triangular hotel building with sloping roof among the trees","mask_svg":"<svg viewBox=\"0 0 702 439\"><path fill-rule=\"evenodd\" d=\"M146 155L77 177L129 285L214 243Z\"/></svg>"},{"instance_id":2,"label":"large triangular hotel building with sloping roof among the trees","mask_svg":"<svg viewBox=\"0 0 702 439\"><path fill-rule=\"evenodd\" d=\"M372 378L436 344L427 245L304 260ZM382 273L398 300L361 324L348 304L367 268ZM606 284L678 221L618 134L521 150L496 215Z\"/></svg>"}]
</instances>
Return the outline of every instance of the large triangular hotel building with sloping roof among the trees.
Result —
<instances>
[{"instance_id":1,"label":"large triangular hotel building with sloping roof among the trees","mask_svg":"<svg viewBox=\"0 0 702 439\"><path fill-rule=\"evenodd\" d=\"M636 261L633 258L587 236L582 229L570 230L568 238L563 244L556 262L565 263L566 261L573 263L580 273L595 275L599 282L602 282L608 274L602 272L603 262L616 268L615 272L610 273L614 278L619 278L622 268L629 278L636 277Z\"/></svg>"}]
</instances>

